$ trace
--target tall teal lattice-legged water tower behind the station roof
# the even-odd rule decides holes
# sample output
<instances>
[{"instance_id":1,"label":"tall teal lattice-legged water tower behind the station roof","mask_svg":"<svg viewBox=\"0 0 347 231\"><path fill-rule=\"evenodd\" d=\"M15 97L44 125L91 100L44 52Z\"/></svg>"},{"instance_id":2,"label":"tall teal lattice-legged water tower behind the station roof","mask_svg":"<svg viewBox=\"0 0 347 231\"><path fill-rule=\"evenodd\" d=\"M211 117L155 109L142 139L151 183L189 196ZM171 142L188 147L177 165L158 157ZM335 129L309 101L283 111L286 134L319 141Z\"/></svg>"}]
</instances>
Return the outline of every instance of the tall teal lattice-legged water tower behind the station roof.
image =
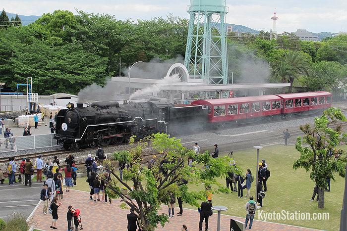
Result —
<instances>
[{"instance_id":1,"label":"tall teal lattice-legged water tower behind the station roof","mask_svg":"<svg viewBox=\"0 0 347 231\"><path fill-rule=\"evenodd\" d=\"M225 0L190 0L184 64L190 79L228 84Z\"/></svg>"}]
</instances>

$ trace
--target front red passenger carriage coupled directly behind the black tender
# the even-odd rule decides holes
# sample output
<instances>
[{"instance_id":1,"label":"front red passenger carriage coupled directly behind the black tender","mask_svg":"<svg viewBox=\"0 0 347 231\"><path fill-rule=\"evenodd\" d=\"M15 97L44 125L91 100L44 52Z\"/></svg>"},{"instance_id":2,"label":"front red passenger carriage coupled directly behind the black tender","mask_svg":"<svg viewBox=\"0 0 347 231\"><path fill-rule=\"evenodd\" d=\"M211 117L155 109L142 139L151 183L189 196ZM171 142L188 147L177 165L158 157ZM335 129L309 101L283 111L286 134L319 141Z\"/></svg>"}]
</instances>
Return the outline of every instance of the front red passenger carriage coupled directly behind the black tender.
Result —
<instances>
[{"instance_id":1,"label":"front red passenger carriage coupled directly behind the black tender","mask_svg":"<svg viewBox=\"0 0 347 231\"><path fill-rule=\"evenodd\" d=\"M209 108L209 122L253 120L257 117L281 114L281 100L277 95L260 95L239 98L195 100L191 104Z\"/></svg>"}]
</instances>

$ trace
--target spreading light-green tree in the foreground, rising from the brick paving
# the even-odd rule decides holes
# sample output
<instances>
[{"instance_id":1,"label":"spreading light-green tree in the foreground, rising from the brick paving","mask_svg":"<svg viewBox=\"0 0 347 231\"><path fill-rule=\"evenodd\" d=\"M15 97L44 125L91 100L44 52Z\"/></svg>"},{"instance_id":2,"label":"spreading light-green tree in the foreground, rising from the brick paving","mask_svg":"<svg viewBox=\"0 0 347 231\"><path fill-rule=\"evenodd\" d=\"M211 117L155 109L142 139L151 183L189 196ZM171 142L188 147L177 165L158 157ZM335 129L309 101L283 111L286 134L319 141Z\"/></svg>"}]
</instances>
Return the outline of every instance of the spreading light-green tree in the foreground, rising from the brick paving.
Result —
<instances>
[{"instance_id":1,"label":"spreading light-green tree in the foreground, rising from the brick paving","mask_svg":"<svg viewBox=\"0 0 347 231\"><path fill-rule=\"evenodd\" d=\"M229 165L232 159L227 156L214 159L208 152L195 156L192 150L182 146L179 139L169 138L166 134L155 134L150 141L150 147L160 153L152 168L147 169L141 165L141 154L148 142L140 141L133 148L114 154L115 160L128 167L123 170L122 180L115 169L111 168L116 181L109 183L107 187L112 197L120 197L127 206L134 209L143 231L154 231L159 224L164 227L169 221L168 215L159 214L159 210L161 204L169 203L170 193L198 207L202 200L206 200L208 193L229 191L217 182L217 178L225 177L228 171L241 174L240 168ZM185 164L188 157L192 156L195 156L195 167ZM189 184L205 185L209 190L188 189L187 185L180 184L182 180L187 180Z\"/></svg>"}]
</instances>

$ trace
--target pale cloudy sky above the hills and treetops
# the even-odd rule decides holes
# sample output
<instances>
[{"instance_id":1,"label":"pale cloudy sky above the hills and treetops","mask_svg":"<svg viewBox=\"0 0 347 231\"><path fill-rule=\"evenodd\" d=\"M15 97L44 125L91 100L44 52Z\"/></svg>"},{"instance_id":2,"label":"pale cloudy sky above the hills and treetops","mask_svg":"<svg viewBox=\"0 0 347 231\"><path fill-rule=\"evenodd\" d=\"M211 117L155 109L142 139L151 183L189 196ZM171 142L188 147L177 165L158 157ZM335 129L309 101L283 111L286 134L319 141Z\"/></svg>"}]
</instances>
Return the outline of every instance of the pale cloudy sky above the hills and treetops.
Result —
<instances>
[{"instance_id":1,"label":"pale cloudy sky above the hills and treetops","mask_svg":"<svg viewBox=\"0 0 347 231\"><path fill-rule=\"evenodd\" d=\"M193 0L194 1L194 0ZM199 1L199 0L195 0ZM223 0L211 0L223 2ZM272 29L270 17L276 8L277 31L311 32L347 31L347 0L226 0L229 13L226 22L255 30ZM92 13L108 13L116 19L153 19L169 13L189 18L189 0L1 0L7 12L19 15L42 15L56 9L76 13L76 9Z\"/></svg>"}]
</instances>

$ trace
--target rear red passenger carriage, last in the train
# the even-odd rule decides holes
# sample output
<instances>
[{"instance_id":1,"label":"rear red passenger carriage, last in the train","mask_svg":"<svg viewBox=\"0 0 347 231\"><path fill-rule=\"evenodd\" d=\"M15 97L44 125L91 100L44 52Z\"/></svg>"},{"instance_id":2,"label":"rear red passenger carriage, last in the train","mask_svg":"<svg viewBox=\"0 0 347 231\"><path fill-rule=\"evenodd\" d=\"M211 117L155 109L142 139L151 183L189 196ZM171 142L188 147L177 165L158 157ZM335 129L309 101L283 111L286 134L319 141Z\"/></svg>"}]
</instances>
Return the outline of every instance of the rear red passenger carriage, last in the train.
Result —
<instances>
[{"instance_id":1,"label":"rear red passenger carriage, last in the train","mask_svg":"<svg viewBox=\"0 0 347 231\"><path fill-rule=\"evenodd\" d=\"M330 92L304 92L291 94L277 94L282 98L281 113L302 114L315 112L331 107L332 94Z\"/></svg>"}]
</instances>

